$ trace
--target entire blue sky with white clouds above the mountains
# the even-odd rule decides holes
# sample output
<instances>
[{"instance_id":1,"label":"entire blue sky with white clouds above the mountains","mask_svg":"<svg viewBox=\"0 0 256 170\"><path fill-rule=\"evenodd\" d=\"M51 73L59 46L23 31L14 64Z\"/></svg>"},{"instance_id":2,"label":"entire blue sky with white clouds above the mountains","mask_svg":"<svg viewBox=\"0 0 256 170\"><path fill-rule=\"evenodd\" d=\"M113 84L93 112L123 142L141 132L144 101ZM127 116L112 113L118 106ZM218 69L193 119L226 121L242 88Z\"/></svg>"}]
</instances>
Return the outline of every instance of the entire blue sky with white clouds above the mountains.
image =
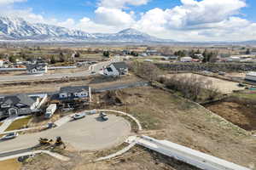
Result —
<instances>
[{"instance_id":1,"label":"entire blue sky with white clouds above the mountains","mask_svg":"<svg viewBox=\"0 0 256 170\"><path fill-rule=\"evenodd\" d=\"M0 0L0 14L88 32L177 41L256 40L256 0Z\"/></svg>"}]
</instances>

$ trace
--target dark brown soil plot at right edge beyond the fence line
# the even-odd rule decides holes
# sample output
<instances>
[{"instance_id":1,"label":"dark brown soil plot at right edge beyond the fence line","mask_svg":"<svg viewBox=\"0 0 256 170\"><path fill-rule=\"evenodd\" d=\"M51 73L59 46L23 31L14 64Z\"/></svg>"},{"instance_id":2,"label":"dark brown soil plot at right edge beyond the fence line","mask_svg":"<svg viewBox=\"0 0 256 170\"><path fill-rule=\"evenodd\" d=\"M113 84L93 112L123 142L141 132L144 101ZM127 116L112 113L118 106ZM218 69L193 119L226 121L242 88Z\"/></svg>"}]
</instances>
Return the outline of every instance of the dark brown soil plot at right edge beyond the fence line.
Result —
<instances>
[{"instance_id":1,"label":"dark brown soil plot at right edge beyond the fence line","mask_svg":"<svg viewBox=\"0 0 256 170\"><path fill-rule=\"evenodd\" d=\"M208 105L207 109L245 130L256 130L256 110L253 106L241 105L235 102L218 102Z\"/></svg>"}]
</instances>

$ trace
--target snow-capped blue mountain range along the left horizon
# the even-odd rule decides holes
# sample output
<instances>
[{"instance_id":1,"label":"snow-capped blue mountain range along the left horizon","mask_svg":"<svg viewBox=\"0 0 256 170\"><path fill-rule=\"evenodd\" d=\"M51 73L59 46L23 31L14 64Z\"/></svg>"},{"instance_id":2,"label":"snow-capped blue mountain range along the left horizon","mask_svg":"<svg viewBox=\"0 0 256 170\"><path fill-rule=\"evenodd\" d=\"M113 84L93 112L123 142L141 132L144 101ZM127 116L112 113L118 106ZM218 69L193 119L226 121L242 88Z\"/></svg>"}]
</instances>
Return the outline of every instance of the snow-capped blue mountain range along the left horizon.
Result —
<instances>
[{"instance_id":1,"label":"snow-capped blue mountain range along the left horizon","mask_svg":"<svg viewBox=\"0 0 256 170\"><path fill-rule=\"evenodd\" d=\"M0 17L0 40L83 41L83 42L166 42L135 29L113 34L88 33L61 26L32 24L21 18Z\"/></svg>"}]
</instances>

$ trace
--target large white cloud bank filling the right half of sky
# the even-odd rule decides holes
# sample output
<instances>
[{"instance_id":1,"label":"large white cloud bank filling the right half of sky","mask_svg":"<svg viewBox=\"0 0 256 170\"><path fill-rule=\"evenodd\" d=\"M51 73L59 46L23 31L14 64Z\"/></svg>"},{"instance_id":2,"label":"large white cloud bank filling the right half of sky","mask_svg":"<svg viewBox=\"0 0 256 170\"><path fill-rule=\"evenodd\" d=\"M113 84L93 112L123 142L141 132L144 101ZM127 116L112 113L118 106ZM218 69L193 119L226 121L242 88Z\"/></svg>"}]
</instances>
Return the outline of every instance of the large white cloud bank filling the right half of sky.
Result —
<instances>
[{"instance_id":1,"label":"large white cloud bank filling the right half of sky","mask_svg":"<svg viewBox=\"0 0 256 170\"><path fill-rule=\"evenodd\" d=\"M181 0L174 8L153 8L133 26L163 38L181 41L256 39L255 23L238 17L244 0ZM243 36L245 30L249 30Z\"/></svg>"}]
</instances>

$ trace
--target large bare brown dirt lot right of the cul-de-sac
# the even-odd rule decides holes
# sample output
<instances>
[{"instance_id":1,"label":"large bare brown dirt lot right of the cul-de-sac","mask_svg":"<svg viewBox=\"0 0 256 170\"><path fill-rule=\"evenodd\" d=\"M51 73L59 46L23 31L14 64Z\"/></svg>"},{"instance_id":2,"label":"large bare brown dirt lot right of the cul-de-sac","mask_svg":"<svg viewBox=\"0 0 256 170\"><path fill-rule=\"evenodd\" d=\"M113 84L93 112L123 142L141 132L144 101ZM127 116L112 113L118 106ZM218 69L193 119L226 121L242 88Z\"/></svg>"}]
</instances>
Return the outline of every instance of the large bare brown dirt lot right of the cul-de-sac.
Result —
<instances>
[{"instance_id":1,"label":"large bare brown dirt lot right of the cul-de-sac","mask_svg":"<svg viewBox=\"0 0 256 170\"><path fill-rule=\"evenodd\" d=\"M147 135L169 139L246 167L256 165L256 139L197 105L149 87L125 89L119 94L122 103L127 102L128 112L150 130ZM126 111L125 105L109 108Z\"/></svg>"}]
</instances>

